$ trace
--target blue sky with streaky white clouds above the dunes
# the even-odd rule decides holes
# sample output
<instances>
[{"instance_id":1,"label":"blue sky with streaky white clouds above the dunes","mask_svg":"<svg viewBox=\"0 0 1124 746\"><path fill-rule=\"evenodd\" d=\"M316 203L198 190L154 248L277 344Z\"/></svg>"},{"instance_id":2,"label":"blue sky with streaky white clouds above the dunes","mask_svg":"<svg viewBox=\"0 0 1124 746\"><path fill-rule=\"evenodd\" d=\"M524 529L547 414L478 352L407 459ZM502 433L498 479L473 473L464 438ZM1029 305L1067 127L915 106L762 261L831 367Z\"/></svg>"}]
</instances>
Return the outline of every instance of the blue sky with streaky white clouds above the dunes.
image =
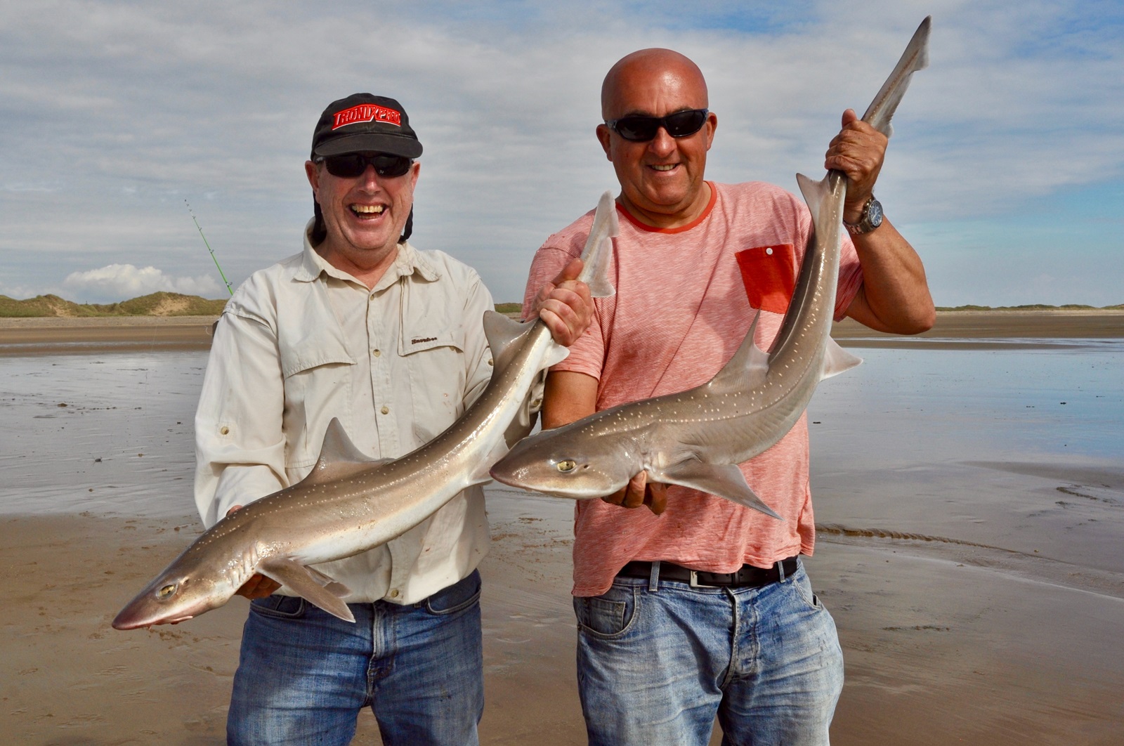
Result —
<instances>
[{"instance_id":1,"label":"blue sky with streaky white clouds above the dunes","mask_svg":"<svg viewBox=\"0 0 1124 746\"><path fill-rule=\"evenodd\" d=\"M619 191L593 135L619 57L695 60L707 178L795 191L926 15L876 194L937 306L1124 303L1120 0L9 0L0 294L226 297L192 215L234 286L299 252L316 120L369 91L425 147L411 243L520 300L534 251Z\"/></svg>"}]
</instances>

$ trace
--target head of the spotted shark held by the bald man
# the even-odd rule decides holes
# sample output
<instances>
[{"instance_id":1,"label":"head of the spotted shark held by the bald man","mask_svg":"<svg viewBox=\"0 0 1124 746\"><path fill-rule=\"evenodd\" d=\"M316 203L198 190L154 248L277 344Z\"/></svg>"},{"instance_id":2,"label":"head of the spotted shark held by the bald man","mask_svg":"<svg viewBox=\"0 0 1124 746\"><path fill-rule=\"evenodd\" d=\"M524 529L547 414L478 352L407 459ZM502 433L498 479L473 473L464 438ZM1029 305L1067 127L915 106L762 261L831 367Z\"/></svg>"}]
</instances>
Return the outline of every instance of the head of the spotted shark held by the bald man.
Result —
<instances>
[{"instance_id":1,"label":"head of the spotted shark held by the bald man","mask_svg":"<svg viewBox=\"0 0 1124 746\"><path fill-rule=\"evenodd\" d=\"M609 439L570 437L560 427L524 438L495 466L498 482L559 498L589 500L613 494L640 471Z\"/></svg>"}]
</instances>

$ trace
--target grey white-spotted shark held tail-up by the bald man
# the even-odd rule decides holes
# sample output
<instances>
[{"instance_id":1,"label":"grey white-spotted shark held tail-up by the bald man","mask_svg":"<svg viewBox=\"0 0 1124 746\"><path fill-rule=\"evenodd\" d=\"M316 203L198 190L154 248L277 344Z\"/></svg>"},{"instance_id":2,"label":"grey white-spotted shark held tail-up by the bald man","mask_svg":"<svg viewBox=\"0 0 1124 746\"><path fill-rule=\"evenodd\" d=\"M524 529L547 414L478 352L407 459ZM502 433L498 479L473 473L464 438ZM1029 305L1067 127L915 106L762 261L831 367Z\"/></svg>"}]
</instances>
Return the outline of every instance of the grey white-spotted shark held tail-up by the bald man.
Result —
<instances>
[{"instance_id":1,"label":"grey white-spotted shark held tail-up by the bald man","mask_svg":"<svg viewBox=\"0 0 1124 746\"><path fill-rule=\"evenodd\" d=\"M863 120L883 134L914 72L928 64L930 19L906 48ZM641 470L651 480L724 497L781 519L745 482L737 464L780 440L825 377L862 361L831 338L839 280L846 176L797 174L812 211L792 299L772 353L753 343L756 318L729 362L687 391L606 409L531 436L491 470L499 482L562 498L611 494Z\"/></svg>"}]
</instances>

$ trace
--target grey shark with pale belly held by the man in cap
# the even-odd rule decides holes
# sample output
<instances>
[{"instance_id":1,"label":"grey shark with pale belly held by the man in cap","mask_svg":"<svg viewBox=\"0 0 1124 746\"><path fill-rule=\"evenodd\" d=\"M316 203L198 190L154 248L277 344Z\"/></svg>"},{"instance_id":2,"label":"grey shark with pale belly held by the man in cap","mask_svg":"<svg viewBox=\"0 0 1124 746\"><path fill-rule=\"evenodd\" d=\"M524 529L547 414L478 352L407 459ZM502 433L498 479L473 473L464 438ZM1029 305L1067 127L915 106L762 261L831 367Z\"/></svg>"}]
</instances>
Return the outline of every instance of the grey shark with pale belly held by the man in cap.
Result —
<instances>
[{"instance_id":1,"label":"grey shark with pale belly held by the man in cap","mask_svg":"<svg viewBox=\"0 0 1124 746\"><path fill-rule=\"evenodd\" d=\"M579 275L595 297L613 294L606 267L617 227L616 207L606 192ZM148 583L112 626L136 629L190 619L226 603L254 573L355 621L343 600L348 589L309 565L384 544L461 490L487 482L489 466L531 431L546 369L569 354L541 320L518 324L488 311L483 324L495 365L491 381L444 433L400 458L375 461L333 419L308 476L215 524ZM536 400L528 411L531 392Z\"/></svg>"}]
</instances>

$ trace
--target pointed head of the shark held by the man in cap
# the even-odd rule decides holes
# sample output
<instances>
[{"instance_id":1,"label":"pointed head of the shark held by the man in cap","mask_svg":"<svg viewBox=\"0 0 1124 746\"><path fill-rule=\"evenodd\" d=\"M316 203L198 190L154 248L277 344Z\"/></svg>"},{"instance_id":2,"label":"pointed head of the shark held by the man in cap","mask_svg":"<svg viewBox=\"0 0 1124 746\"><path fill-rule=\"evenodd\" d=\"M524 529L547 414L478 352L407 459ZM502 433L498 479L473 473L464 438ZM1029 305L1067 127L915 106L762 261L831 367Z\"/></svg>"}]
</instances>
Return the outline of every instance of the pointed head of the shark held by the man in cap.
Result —
<instances>
[{"instance_id":1,"label":"pointed head of the shark held by the man in cap","mask_svg":"<svg viewBox=\"0 0 1124 746\"><path fill-rule=\"evenodd\" d=\"M193 548L193 547L191 547ZM114 618L114 629L184 621L223 606L237 585L221 572L194 562L191 548L148 583Z\"/></svg>"}]
</instances>

